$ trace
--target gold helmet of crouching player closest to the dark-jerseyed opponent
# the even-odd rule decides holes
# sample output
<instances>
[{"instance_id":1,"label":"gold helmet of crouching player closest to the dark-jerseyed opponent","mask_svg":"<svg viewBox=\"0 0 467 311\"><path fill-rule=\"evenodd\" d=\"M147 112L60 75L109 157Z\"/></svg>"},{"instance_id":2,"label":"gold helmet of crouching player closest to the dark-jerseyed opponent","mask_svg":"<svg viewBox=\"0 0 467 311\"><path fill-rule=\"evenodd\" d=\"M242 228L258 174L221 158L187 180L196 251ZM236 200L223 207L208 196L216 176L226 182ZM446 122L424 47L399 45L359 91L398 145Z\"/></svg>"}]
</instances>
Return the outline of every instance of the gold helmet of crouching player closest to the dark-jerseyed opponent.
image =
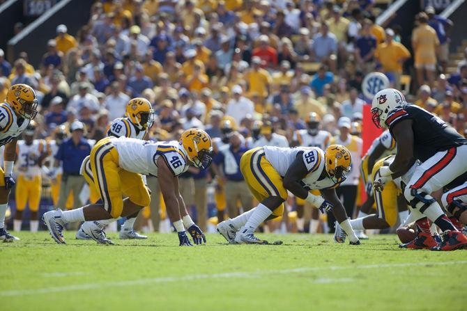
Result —
<instances>
[{"instance_id":1,"label":"gold helmet of crouching player closest to the dark-jerseyed opponent","mask_svg":"<svg viewBox=\"0 0 467 311\"><path fill-rule=\"evenodd\" d=\"M324 152L324 167L332 182L340 184L351 170L352 156L343 145L330 145Z\"/></svg>"}]
</instances>

